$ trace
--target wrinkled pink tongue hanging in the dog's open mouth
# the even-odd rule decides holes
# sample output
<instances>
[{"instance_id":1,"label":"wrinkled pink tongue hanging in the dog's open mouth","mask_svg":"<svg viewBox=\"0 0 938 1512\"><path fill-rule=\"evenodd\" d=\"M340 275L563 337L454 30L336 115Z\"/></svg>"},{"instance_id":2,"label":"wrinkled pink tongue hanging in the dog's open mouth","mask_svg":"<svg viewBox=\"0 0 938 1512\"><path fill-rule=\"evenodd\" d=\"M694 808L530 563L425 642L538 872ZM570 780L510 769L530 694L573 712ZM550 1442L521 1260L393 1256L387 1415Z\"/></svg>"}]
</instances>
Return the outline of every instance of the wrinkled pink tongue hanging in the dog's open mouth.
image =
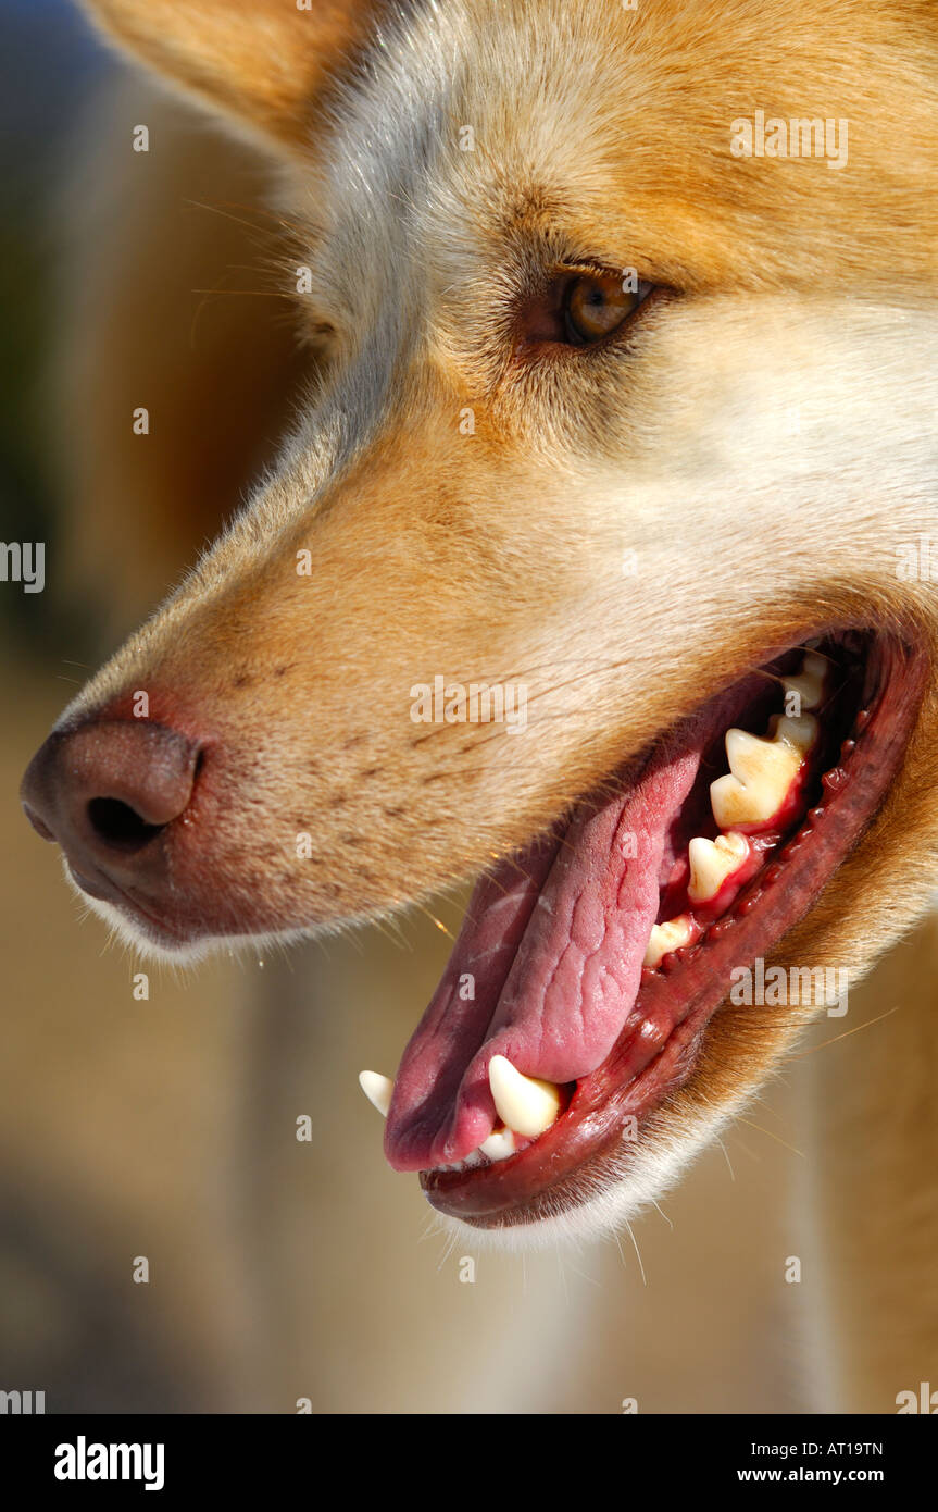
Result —
<instances>
[{"instance_id":1,"label":"wrinkled pink tongue hanging in the dog's open mouth","mask_svg":"<svg viewBox=\"0 0 938 1512\"><path fill-rule=\"evenodd\" d=\"M699 761L699 738L687 739L479 883L397 1072L385 1129L396 1170L464 1160L488 1139L492 1055L556 1083L606 1060L639 990L669 832Z\"/></svg>"}]
</instances>

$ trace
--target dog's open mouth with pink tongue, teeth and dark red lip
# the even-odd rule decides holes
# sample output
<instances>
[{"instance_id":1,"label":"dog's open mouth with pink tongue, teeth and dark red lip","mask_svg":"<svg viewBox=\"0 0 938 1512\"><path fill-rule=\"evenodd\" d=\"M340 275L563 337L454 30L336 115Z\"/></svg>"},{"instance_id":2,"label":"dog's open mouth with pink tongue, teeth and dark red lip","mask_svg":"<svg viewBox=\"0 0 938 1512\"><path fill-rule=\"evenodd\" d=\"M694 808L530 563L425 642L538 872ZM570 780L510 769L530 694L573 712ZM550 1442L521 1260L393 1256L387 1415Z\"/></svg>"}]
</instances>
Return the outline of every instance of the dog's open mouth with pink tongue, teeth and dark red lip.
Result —
<instances>
[{"instance_id":1,"label":"dog's open mouth with pink tongue, teeth and dark red lip","mask_svg":"<svg viewBox=\"0 0 938 1512\"><path fill-rule=\"evenodd\" d=\"M391 1166L482 1228L586 1201L612 1158L621 1176L734 968L810 912L876 813L924 685L899 637L791 646L500 862L393 1093L363 1075Z\"/></svg>"}]
</instances>

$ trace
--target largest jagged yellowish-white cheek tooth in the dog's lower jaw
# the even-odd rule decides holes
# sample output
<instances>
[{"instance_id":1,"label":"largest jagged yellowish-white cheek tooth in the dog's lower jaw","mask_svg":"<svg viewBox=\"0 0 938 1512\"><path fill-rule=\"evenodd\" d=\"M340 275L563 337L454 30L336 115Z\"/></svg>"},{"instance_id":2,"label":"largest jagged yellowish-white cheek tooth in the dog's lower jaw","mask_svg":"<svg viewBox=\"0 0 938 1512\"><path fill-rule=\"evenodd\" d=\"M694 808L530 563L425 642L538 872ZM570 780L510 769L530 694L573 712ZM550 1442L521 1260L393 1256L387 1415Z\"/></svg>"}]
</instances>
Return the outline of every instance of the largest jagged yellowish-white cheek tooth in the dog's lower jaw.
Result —
<instances>
[{"instance_id":1,"label":"largest jagged yellowish-white cheek tooth in the dog's lower jaw","mask_svg":"<svg viewBox=\"0 0 938 1512\"><path fill-rule=\"evenodd\" d=\"M713 818L722 830L763 824L784 803L799 767L817 738L813 714L776 715L772 738L727 730L730 771L710 783Z\"/></svg>"}]
</instances>

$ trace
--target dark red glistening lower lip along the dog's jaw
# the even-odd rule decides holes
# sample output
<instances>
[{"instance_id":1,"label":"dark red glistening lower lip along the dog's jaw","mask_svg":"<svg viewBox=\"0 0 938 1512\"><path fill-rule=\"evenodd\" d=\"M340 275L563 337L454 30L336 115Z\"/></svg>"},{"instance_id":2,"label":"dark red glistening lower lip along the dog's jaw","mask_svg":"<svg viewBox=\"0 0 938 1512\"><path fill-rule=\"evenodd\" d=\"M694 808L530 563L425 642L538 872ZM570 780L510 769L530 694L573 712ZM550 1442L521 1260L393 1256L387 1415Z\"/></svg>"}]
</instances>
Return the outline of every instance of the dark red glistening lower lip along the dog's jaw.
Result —
<instances>
[{"instance_id":1,"label":"dark red glistening lower lip along the dog's jaw","mask_svg":"<svg viewBox=\"0 0 938 1512\"><path fill-rule=\"evenodd\" d=\"M758 875L699 947L675 953L672 969L642 983L634 1010L604 1063L577 1083L568 1110L535 1143L504 1161L471 1170L421 1172L441 1213L477 1228L533 1223L595 1196L621 1178L624 1132L683 1086L699 1057L707 1024L734 966L767 956L810 912L879 809L902 762L927 682L927 658L894 640L872 644L869 718L856 747L826 785L820 813L784 845L787 886ZM870 686L870 682L873 686ZM859 777L864 780L861 782ZM808 901L805 901L805 898Z\"/></svg>"}]
</instances>

